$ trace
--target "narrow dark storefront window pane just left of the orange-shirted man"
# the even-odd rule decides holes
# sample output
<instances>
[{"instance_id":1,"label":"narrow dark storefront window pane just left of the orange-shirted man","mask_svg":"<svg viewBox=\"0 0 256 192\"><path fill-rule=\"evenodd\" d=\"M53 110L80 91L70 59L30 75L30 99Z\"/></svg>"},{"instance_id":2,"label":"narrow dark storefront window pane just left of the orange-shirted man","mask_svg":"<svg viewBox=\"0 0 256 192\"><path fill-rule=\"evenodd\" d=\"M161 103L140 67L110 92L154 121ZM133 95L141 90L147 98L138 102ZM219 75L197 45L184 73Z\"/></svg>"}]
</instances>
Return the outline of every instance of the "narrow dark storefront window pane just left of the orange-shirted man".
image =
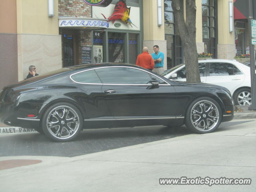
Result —
<instances>
[{"instance_id":1,"label":"narrow dark storefront window pane just left of the orange-shirted man","mask_svg":"<svg viewBox=\"0 0 256 192\"><path fill-rule=\"evenodd\" d=\"M138 52L138 34L129 34L129 63L136 64L137 52Z\"/></svg>"}]
</instances>

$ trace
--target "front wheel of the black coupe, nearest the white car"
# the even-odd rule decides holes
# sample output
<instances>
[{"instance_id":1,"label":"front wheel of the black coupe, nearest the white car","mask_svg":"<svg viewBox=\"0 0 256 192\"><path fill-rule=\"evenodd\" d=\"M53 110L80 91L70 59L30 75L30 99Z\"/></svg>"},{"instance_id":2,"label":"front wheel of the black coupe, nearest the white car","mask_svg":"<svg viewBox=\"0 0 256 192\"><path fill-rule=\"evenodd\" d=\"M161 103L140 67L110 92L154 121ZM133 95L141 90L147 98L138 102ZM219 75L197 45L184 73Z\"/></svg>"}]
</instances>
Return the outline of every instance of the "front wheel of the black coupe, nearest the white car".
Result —
<instances>
[{"instance_id":1,"label":"front wheel of the black coupe, nearest the white car","mask_svg":"<svg viewBox=\"0 0 256 192\"><path fill-rule=\"evenodd\" d=\"M185 116L186 127L196 133L209 133L218 128L222 121L220 105L213 99L202 97L188 106Z\"/></svg>"}]
</instances>

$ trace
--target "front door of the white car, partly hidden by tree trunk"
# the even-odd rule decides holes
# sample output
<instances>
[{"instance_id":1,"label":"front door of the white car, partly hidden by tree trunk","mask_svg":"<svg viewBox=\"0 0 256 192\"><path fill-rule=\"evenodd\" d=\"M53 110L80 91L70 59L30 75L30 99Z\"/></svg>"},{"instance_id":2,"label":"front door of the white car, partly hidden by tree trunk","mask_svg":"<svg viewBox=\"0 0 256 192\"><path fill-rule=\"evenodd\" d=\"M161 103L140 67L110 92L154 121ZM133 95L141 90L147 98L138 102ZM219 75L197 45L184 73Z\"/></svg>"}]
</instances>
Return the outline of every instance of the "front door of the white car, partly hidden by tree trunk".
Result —
<instances>
[{"instance_id":1,"label":"front door of the white car, partly hidden by tree trunk","mask_svg":"<svg viewBox=\"0 0 256 192\"><path fill-rule=\"evenodd\" d=\"M199 68L199 74L200 74L200 79L202 83L206 82L206 63L199 63L198 64ZM176 81L186 81L186 68L185 66L175 72L177 74L176 78L172 78L172 76L169 77L170 80L176 80Z\"/></svg>"}]
</instances>

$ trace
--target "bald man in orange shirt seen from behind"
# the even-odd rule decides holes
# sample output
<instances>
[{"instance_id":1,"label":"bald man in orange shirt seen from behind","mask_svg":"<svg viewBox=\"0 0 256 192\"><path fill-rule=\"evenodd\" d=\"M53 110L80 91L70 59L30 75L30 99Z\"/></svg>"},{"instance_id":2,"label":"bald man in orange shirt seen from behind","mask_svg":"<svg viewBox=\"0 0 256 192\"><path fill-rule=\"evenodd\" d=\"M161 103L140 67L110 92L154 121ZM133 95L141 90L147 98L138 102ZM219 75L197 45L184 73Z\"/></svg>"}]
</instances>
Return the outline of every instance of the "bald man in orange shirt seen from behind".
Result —
<instances>
[{"instance_id":1,"label":"bald man in orange shirt seen from behind","mask_svg":"<svg viewBox=\"0 0 256 192\"><path fill-rule=\"evenodd\" d=\"M152 56L148 53L148 48L144 47L142 49L142 54L139 54L137 57L136 65L146 68L150 71L154 69L155 62Z\"/></svg>"}]
</instances>

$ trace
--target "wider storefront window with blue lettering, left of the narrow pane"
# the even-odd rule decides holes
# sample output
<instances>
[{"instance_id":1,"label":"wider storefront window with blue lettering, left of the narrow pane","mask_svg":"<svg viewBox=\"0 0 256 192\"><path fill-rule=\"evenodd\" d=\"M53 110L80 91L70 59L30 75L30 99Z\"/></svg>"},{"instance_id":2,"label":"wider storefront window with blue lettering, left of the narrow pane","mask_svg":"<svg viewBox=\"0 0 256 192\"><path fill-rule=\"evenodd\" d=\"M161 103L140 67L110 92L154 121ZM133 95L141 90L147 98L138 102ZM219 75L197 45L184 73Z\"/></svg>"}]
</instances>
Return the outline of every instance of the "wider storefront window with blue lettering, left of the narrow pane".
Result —
<instances>
[{"instance_id":1,"label":"wider storefront window with blue lettering, left of the narrow pane","mask_svg":"<svg viewBox=\"0 0 256 192\"><path fill-rule=\"evenodd\" d=\"M124 33L108 33L108 61L124 62Z\"/></svg>"}]
</instances>

